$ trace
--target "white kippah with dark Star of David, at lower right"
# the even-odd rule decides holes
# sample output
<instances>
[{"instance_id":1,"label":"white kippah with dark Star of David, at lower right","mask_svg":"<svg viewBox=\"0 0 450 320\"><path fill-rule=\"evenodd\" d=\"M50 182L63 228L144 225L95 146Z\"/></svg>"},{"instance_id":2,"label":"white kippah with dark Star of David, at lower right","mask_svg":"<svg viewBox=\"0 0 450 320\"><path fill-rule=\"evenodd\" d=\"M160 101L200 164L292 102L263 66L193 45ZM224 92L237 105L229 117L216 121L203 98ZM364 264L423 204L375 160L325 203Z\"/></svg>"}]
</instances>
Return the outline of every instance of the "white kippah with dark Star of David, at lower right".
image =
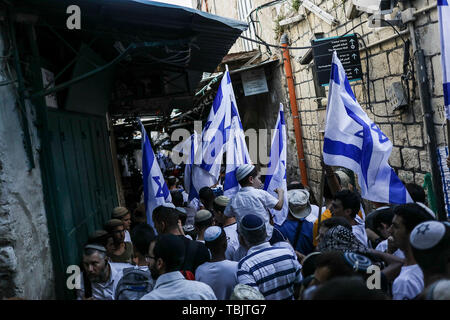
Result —
<instances>
[{"instance_id":1,"label":"white kippah with dark Star of David, at lower right","mask_svg":"<svg viewBox=\"0 0 450 320\"><path fill-rule=\"evenodd\" d=\"M445 235L445 226L438 221L426 221L418 224L409 236L411 245L419 250L431 249Z\"/></svg>"}]
</instances>

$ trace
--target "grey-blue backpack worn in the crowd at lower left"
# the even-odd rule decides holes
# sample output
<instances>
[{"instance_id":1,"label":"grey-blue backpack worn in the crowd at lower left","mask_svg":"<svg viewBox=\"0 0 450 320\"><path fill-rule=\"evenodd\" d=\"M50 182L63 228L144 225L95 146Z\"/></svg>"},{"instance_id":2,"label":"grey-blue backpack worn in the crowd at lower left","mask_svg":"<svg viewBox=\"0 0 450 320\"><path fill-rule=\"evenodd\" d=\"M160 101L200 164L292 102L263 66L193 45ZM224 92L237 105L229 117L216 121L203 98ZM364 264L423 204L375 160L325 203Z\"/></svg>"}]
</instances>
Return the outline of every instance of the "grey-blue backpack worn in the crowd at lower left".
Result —
<instances>
[{"instance_id":1,"label":"grey-blue backpack worn in the crowd at lower left","mask_svg":"<svg viewBox=\"0 0 450 320\"><path fill-rule=\"evenodd\" d=\"M117 283L114 300L139 300L152 289L150 270L125 268L122 278Z\"/></svg>"}]
</instances>

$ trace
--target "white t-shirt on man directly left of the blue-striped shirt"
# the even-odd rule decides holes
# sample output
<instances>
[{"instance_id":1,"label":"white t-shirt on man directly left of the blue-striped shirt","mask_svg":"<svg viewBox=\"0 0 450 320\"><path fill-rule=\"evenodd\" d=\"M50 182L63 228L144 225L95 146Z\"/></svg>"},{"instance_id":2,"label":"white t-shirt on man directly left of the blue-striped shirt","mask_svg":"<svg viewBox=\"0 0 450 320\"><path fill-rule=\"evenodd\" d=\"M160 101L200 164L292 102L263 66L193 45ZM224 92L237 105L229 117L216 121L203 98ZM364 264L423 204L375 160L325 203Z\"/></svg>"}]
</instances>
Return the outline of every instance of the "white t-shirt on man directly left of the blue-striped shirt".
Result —
<instances>
[{"instance_id":1,"label":"white t-shirt on man directly left of the blue-striped shirt","mask_svg":"<svg viewBox=\"0 0 450 320\"><path fill-rule=\"evenodd\" d=\"M195 271L195 280L209 285L217 300L229 300L237 284L236 261L205 262Z\"/></svg>"}]
</instances>

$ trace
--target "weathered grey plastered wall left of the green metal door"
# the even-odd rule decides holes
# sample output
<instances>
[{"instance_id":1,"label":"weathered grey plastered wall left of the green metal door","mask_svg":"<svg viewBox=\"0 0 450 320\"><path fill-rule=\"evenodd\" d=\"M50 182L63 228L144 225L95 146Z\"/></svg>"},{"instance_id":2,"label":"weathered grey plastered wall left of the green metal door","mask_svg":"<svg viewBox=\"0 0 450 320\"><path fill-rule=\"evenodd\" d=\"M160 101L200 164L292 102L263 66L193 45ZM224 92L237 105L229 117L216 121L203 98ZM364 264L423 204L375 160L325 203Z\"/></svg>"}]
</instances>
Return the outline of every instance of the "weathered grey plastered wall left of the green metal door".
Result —
<instances>
[{"instance_id":1,"label":"weathered grey plastered wall left of the green metal door","mask_svg":"<svg viewBox=\"0 0 450 320\"><path fill-rule=\"evenodd\" d=\"M0 39L0 52L3 40ZM15 78L1 62L0 81ZM13 85L0 87L0 299L54 298L35 114L26 106L35 168L29 171Z\"/></svg>"}]
</instances>

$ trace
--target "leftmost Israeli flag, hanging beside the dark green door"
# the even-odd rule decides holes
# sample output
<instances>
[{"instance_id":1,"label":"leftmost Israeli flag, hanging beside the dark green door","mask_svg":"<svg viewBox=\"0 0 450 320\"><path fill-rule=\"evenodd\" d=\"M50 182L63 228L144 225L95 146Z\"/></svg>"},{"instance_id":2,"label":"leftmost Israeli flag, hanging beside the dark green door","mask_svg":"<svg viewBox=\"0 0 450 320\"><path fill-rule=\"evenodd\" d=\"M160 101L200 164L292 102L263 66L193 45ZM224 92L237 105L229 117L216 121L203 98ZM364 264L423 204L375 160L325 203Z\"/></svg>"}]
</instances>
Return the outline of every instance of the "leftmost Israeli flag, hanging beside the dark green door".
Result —
<instances>
[{"instance_id":1,"label":"leftmost Israeli flag, hanging beside the dark green door","mask_svg":"<svg viewBox=\"0 0 450 320\"><path fill-rule=\"evenodd\" d=\"M142 137L142 179L144 181L145 213L147 215L147 223L154 228L152 219L153 210L165 202L171 202L172 197L170 196L169 188L162 175L144 125L140 121L139 123L141 125Z\"/></svg>"}]
</instances>

